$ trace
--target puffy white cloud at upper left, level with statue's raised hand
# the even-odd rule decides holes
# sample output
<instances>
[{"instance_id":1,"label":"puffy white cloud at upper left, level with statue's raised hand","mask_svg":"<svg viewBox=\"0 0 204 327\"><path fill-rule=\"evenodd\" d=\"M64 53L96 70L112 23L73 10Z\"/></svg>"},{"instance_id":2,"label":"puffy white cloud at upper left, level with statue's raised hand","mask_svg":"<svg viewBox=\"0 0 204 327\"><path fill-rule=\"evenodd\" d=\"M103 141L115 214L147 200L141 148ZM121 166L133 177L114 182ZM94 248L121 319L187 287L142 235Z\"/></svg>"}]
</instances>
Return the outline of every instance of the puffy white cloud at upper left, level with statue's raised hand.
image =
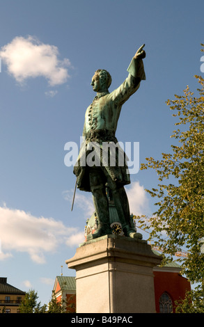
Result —
<instances>
[{"instance_id":1,"label":"puffy white cloud at upper left, level with statue's raised hand","mask_svg":"<svg viewBox=\"0 0 204 327\"><path fill-rule=\"evenodd\" d=\"M58 55L57 47L46 45L31 35L27 38L17 36L0 51L8 72L17 82L23 83L31 77L45 77L50 86L65 83L69 77L69 59L61 61Z\"/></svg>"}]
</instances>

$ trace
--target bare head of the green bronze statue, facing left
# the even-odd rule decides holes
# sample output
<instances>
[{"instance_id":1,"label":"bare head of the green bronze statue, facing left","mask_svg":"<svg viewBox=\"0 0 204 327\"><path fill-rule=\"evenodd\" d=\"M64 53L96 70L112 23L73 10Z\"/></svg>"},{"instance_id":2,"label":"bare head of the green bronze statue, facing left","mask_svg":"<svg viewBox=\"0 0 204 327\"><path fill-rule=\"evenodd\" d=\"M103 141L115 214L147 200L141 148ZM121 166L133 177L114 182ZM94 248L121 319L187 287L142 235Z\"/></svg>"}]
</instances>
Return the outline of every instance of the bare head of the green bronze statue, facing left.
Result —
<instances>
[{"instance_id":1,"label":"bare head of the green bronze statue, facing left","mask_svg":"<svg viewBox=\"0 0 204 327\"><path fill-rule=\"evenodd\" d=\"M111 75L107 70L96 70L93 75L91 85L93 86L93 90L95 92L104 92L107 91L109 86L111 85Z\"/></svg>"}]
</instances>

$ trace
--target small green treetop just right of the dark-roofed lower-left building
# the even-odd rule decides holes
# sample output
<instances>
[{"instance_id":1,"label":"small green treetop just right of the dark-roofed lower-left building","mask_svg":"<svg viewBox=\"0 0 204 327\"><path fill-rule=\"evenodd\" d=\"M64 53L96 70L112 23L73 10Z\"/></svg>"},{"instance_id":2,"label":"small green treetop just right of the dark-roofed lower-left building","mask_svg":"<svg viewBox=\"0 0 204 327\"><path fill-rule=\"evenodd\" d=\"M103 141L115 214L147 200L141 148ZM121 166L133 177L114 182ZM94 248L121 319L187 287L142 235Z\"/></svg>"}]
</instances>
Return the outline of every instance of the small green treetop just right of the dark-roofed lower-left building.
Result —
<instances>
[{"instance_id":1,"label":"small green treetop just right of the dark-roofed lower-left building","mask_svg":"<svg viewBox=\"0 0 204 327\"><path fill-rule=\"evenodd\" d=\"M20 313L45 313L47 305L38 303L38 293L34 289L30 289L26 293L24 301L19 305Z\"/></svg>"}]
</instances>

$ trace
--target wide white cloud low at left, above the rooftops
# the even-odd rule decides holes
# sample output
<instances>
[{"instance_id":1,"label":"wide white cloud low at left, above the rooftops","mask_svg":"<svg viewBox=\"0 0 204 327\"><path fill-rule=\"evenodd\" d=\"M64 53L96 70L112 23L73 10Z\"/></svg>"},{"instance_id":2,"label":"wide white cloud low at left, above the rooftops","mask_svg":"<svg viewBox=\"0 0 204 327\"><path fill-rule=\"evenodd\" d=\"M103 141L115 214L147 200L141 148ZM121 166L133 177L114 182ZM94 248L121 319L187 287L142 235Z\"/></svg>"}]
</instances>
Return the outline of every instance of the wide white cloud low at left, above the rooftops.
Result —
<instances>
[{"instance_id":1,"label":"wide white cloud low at left, above the rooftops","mask_svg":"<svg viewBox=\"0 0 204 327\"><path fill-rule=\"evenodd\" d=\"M45 263L45 253L53 253L60 244L66 244L73 233L77 233L76 228L68 228L53 218L38 218L21 210L0 207L0 260L19 251L29 253L33 262Z\"/></svg>"}]
</instances>

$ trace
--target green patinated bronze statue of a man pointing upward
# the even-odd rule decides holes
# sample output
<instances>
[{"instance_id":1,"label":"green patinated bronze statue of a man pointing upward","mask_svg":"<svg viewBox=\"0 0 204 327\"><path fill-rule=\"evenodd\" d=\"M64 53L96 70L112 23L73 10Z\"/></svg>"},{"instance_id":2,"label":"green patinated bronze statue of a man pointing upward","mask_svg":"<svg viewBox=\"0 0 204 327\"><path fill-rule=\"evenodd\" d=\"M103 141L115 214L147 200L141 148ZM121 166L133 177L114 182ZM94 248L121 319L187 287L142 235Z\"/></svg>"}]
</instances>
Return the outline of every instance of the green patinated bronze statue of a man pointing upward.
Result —
<instances>
[{"instance_id":1,"label":"green patinated bronze statue of a man pointing upward","mask_svg":"<svg viewBox=\"0 0 204 327\"><path fill-rule=\"evenodd\" d=\"M142 60L146 57L146 53L143 47L144 45L136 51L132 58L130 66L127 68L127 72L129 72L127 79L113 92L109 93L108 90L111 85L111 75L107 70L97 70L91 81L91 86L97 95L85 113L83 131L85 143L81 147L79 158L74 166L74 174L77 176L77 188L82 191L91 191L93 195L95 212L99 221L99 228L91 235L93 239L112 234L109 221L109 202L106 194L107 185L111 190L125 236L142 238L141 234L136 232L131 221L124 189L124 185L130 184L127 163L124 161L122 166L118 164L120 150L115 152L116 164L114 166L110 165L111 152L108 152L107 161L102 161L101 154L104 144L118 144L115 133L121 108L127 99L138 90L141 80L146 79ZM90 144L98 145L95 146L95 150L99 153L99 164L87 163L88 154L91 153Z\"/></svg>"}]
</instances>

